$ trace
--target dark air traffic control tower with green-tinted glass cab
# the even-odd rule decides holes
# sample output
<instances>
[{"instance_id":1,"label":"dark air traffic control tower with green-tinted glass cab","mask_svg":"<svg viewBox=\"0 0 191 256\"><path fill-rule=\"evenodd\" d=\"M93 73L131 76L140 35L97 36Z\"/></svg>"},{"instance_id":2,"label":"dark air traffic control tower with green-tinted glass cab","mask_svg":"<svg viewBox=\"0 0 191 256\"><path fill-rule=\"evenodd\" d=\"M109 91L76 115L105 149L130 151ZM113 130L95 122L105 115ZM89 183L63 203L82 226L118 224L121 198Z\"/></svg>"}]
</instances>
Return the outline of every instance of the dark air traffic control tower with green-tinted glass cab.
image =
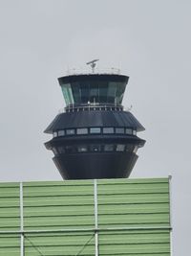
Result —
<instances>
[{"instance_id":1,"label":"dark air traffic control tower with green-tinted glass cab","mask_svg":"<svg viewBox=\"0 0 191 256\"><path fill-rule=\"evenodd\" d=\"M144 128L122 106L129 77L96 74L96 60L92 73L58 79L66 107L46 128L53 139L45 146L64 179L128 177L145 143L137 135Z\"/></svg>"}]
</instances>

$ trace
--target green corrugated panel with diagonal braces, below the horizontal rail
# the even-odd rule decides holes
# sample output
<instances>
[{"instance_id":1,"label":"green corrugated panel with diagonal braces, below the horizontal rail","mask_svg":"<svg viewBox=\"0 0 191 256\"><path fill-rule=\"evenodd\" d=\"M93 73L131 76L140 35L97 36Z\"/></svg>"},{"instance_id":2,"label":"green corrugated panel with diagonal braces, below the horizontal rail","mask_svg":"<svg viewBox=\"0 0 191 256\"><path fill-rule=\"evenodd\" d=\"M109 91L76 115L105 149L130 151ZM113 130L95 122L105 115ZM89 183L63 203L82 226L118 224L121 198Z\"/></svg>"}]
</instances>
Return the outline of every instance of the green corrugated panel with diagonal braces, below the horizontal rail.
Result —
<instances>
[{"instance_id":1,"label":"green corrugated panel with diagonal braces, below the horizontal rail","mask_svg":"<svg viewBox=\"0 0 191 256\"><path fill-rule=\"evenodd\" d=\"M25 239L25 255L95 255L94 232L35 234Z\"/></svg>"}]
</instances>

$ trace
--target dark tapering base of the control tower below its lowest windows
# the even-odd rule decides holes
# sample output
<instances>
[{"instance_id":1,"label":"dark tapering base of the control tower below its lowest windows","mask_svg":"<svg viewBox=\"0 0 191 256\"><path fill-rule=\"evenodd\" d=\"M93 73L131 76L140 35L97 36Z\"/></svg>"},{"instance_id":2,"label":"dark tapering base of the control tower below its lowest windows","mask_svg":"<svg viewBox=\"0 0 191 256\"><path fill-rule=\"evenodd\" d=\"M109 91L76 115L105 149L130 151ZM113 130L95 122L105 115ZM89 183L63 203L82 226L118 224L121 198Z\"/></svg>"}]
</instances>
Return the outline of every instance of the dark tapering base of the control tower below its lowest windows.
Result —
<instances>
[{"instance_id":1,"label":"dark tapering base of the control tower below its lowest windows","mask_svg":"<svg viewBox=\"0 0 191 256\"><path fill-rule=\"evenodd\" d=\"M54 156L60 175L64 179L122 178L128 177L138 159L135 153L89 153Z\"/></svg>"}]
</instances>

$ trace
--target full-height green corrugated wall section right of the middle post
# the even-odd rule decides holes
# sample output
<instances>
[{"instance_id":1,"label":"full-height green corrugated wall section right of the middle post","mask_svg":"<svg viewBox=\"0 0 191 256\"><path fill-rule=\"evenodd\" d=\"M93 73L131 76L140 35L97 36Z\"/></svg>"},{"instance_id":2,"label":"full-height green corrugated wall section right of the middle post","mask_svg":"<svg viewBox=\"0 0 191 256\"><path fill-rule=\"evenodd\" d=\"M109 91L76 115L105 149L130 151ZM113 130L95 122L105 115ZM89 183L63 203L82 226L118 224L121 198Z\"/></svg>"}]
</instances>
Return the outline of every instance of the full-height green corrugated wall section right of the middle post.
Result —
<instances>
[{"instance_id":1,"label":"full-height green corrugated wall section right of the middle post","mask_svg":"<svg viewBox=\"0 0 191 256\"><path fill-rule=\"evenodd\" d=\"M97 191L98 226L121 228L100 232L99 255L170 255L168 179L99 180Z\"/></svg>"}]
</instances>

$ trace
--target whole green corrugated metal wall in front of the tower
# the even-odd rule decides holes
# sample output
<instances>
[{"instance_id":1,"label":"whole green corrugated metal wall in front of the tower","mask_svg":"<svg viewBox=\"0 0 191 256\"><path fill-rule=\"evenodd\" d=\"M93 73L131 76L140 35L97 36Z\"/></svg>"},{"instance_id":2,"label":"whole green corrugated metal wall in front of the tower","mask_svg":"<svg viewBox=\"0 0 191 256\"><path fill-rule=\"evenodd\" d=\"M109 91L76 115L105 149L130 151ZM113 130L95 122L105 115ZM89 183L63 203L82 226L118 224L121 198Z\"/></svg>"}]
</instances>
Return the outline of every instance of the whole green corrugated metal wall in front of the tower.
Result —
<instances>
[{"instance_id":1,"label":"whole green corrugated metal wall in front of the tower","mask_svg":"<svg viewBox=\"0 0 191 256\"><path fill-rule=\"evenodd\" d=\"M94 182L0 183L0 256L170 255L168 178Z\"/></svg>"}]
</instances>

